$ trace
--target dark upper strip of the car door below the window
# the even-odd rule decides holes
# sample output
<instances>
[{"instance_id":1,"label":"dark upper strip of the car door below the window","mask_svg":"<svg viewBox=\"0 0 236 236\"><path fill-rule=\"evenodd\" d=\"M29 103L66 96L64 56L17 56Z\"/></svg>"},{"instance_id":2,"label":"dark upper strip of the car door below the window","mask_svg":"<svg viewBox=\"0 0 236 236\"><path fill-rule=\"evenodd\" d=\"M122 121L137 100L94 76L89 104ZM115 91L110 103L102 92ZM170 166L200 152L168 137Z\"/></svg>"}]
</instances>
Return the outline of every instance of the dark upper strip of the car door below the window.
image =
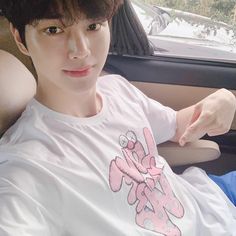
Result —
<instances>
[{"instance_id":1,"label":"dark upper strip of the car door below the window","mask_svg":"<svg viewBox=\"0 0 236 236\"><path fill-rule=\"evenodd\" d=\"M105 69L130 81L236 90L236 63L109 55Z\"/></svg>"}]
</instances>

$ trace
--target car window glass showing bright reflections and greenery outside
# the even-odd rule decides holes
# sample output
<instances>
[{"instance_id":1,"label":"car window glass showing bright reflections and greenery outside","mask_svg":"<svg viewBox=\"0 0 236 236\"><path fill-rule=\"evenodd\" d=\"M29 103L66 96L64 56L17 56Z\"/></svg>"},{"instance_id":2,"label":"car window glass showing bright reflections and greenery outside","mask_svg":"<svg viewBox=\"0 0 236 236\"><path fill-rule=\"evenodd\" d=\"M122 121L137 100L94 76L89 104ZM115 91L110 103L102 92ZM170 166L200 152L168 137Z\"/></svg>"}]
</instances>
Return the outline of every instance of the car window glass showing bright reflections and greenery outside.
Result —
<instances>
[{"instance_id":1,"label":"car window glass showing bright reflections and greenery outside","mask_svg":"<svg viewBox=\"0 0 236 236\"><path fill-rule=\"evenodd\" d=\"M132 0L155 55L236 63L235 0Z\"/></svg>"}]
</instances>

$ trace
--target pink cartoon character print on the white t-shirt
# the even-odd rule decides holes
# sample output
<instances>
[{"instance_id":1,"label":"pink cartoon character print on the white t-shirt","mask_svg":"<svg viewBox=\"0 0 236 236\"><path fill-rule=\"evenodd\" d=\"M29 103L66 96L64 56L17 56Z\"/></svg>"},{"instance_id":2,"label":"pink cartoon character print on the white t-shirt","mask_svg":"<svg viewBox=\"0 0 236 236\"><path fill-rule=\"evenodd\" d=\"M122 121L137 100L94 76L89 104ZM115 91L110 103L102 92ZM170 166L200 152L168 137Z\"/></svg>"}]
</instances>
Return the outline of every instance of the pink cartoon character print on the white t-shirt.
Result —
<instances>
[{"instance_id":1,"label":"pink cartoon character print on the white t-shirt","mask_svg":"<svg viewBox=\"0 0 236 236\"><path fill-rule=\"evenodd\" d=\"M136 205L136 223L144 229L166 236L180 236L181 231L171 221L184 216L184 209L173 193L163 173L164 165L155 160L155 142L148 128L143 130L147 153L134 132L120 136L125 159L116 157L110 164L110 187L118 192L125 182L131 186L128 203Z\"/></svg>"}]
</instances>

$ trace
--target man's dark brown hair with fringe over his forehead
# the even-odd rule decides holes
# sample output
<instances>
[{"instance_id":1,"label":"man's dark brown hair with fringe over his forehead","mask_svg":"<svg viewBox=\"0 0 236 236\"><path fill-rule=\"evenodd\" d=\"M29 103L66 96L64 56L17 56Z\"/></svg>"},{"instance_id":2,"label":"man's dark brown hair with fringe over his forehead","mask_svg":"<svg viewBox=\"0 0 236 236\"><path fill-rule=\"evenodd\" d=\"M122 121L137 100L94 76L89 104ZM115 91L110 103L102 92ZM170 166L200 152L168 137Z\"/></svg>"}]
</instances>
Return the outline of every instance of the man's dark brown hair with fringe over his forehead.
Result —
<instances>
[{"instance_id":1,"label":"man's dark brown hair with fringe over his forehead","mask_svg":"<svg viewBox=\"0 0 236 236\"><path fill-rule=\"evenodd\" d=\"M111 20L123 0L0 0L0 14L19 31L25 44L25 26L41 19L75 21L80 15L88 19Z\"/></svg>"}]
</instances>

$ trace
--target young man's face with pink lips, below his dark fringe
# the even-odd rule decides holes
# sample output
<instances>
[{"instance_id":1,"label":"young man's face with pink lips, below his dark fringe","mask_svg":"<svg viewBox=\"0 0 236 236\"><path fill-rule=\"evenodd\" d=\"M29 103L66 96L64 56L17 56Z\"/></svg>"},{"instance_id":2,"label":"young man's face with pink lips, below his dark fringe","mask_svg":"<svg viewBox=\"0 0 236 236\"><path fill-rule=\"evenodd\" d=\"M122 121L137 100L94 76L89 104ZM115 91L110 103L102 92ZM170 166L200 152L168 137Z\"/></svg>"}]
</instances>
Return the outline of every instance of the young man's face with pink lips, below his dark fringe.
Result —
<instances>
[{"instance_id":1,"label":"young man's face with pink lips, below his dark fringe","mask_svg":"<svg viewBox=\"0 0 236 236\"><path fill-rule=\"evenodd\" d=\"M83 93L96 84L110 45L107 21L81 19L71 25L40 20L27 25L26 44L37 75L38 89Z\"/></svg>"}]
</instances>

